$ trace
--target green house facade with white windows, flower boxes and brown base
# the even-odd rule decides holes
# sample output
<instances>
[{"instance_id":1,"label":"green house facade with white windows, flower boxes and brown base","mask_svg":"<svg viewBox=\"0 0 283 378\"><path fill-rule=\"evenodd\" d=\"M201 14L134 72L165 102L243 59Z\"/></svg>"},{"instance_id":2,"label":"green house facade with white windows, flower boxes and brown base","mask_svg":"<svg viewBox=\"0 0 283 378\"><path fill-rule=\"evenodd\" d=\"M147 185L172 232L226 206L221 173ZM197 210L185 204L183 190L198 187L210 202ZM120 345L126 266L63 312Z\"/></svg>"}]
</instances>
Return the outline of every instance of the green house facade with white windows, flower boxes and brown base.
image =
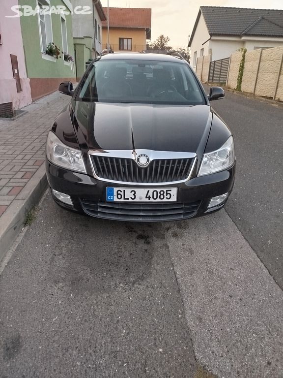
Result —
<instances>
[{"instance_id":1,"label":"green house facade with white windows, flower boxes and brown base","mask_svg":"<svg viewBox=\"0 0 283 378\"><path fill-rule=\"evenodd\" d=\"M71 2L19 0L18 8L32 99L56 91L62 81L76 82Z\"/></svg>"}]
</instances>

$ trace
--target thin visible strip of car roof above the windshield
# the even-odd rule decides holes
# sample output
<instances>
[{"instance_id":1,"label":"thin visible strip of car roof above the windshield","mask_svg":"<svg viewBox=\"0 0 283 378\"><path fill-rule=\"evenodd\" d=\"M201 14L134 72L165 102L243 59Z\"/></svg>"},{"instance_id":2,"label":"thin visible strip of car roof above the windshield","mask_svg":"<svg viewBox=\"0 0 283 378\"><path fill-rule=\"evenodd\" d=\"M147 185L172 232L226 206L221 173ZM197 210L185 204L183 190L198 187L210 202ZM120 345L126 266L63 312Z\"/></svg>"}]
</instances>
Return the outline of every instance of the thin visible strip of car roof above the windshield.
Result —
<instances>
[{"instance_id":1,"label":"thin visible strip of car roof above the windshield","mask_svg":"<svg viewBox=\"0 0 283 378\"><path fill-rule=\"evenodd\" d=\"M103 54L96 58L97 60L144 60L144 61L157 61L157 62L177 62L177 63L187 63L184 59L180 59L173 55L167 54L154 54L154 53L139 53L139 52L114 52Z\"/></svg>"}]
</instances>

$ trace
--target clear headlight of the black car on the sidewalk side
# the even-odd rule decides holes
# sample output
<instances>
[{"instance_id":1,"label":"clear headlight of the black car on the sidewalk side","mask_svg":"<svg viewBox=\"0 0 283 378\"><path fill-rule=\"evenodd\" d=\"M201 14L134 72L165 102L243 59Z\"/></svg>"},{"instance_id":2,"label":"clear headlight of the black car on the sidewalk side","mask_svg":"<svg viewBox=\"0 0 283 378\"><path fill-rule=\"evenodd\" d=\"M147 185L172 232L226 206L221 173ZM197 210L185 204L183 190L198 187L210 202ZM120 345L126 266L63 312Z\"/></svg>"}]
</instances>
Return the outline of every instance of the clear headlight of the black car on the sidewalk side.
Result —
<instances>
[{"instance_id":1,"label":"clear headlight of the black car on the sidewalk side","mask_svg":"<svg viewBox=\"0 0 283 378\"><path fill-rule=\"evenodd\" d=\"M86 173L81 151L65 146L52 131L49 131L46 141L46 156L60 167Z\"/></svg>"}]
</instances>

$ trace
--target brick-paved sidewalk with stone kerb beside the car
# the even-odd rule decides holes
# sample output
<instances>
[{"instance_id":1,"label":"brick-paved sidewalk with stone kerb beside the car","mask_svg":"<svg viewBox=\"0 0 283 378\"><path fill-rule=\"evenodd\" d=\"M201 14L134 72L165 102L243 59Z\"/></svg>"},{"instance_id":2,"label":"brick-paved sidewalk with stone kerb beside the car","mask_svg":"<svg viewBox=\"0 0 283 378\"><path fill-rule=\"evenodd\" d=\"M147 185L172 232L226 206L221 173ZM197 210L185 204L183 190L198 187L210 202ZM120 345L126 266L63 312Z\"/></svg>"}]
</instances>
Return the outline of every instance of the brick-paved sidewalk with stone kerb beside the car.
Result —
<instances>
[{"instance_id":1,"label":"brick-paved sidewalk with stone kerb beside the car","mask_svg":"<svg viewBox=\"0 0 283 378\"><path fill-rule=\"evenodd\" d=\"M23 108L22 117L0 120L0 260L47 188L47 132L70 99L55 92Z\"/></svg>"}]
</instances>

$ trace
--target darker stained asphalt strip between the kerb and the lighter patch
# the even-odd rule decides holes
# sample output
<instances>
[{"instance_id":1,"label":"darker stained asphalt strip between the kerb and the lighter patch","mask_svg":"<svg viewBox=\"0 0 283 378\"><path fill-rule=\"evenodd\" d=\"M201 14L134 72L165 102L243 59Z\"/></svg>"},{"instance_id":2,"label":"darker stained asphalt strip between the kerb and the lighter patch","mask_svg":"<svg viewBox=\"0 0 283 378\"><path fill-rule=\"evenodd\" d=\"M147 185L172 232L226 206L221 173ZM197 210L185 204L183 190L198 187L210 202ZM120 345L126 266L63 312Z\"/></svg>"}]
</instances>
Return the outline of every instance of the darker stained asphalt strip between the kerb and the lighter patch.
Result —
<instances>
[{"instance_id":1,"label":"darker stained asphalt strip between the kerb and the lighter patch","mask_svg":"<svg viewBox=\"0 0 283 378\"><path fill-rule=\"evenodd\" d=\"M194 377L160 224L95 220L48 194L0 279L0 377Z\"/></svg>"}]
</instances>

